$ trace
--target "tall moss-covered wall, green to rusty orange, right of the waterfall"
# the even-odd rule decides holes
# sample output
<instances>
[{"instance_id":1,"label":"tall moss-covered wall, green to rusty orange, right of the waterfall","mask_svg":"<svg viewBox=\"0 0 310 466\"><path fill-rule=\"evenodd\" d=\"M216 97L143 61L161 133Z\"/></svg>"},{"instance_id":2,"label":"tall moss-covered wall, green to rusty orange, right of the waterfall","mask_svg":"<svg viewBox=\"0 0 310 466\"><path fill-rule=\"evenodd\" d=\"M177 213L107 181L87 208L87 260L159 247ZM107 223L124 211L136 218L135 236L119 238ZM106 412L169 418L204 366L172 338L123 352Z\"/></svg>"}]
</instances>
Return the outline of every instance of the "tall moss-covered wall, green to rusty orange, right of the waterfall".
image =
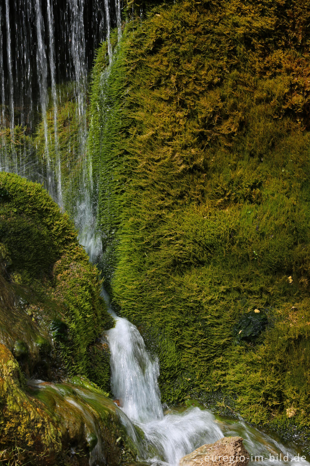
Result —
<instances>
[{"instance_id":1,"label":"tall moss-covered wall, green to rusty orange, right of the waterfall","mask_svg":"<svg viewBox=\"0 0 310 466\"><path fill-rule=\"evenodd\" d=\"M308 453L309 11L134 18L109 67L98 51L90 128L106 286L158 354L163 401L296 429Z\"/></svg>"}]
</instances>

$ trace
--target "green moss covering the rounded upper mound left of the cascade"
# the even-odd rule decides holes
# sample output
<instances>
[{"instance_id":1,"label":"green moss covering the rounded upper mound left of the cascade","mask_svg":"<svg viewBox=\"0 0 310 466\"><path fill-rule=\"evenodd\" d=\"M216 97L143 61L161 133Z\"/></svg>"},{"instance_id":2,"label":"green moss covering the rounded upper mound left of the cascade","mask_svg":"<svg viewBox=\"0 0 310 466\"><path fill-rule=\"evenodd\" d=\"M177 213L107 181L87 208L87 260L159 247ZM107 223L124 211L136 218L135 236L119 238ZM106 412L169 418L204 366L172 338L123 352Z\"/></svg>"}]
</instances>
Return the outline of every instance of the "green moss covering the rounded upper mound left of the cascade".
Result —
<instances>
[{"instance_id":1,"label":"green moss covering the rounded upper mound left of the cascade","mask_svg":"<svg viewBox=\"0 0 310 466\"><path fill-rule=\"evenodd\" d=\"M0 173L0 190L0 242L10 258L4 277L13 282L6 289L14 286L13 293L24 296L32 321L53 338L68 374L91 377L109 391L108 355L96 371L92 365L96 338L112 318L100 296L98 270L79 246L72 221L38 183ZM28 288L16 289L16 282Z\"/></svg>"}]
</instances>

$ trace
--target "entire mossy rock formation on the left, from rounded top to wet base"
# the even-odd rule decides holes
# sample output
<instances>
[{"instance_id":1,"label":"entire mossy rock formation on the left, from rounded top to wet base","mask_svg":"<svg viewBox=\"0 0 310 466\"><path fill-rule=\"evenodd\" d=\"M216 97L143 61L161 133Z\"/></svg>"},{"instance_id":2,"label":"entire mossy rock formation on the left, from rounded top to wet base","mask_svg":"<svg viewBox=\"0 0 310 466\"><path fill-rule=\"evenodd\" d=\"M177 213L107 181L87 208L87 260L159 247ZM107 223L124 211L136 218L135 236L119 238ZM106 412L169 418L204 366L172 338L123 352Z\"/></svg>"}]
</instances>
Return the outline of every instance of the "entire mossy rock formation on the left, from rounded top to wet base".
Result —
<instances>
[{"instance_id":1,"label":"entire mossy rock formation on the left, from rounded top to wet base","mask_svg":"<svg viewBox=\"0 0 310 466\"><path fill-rule=\"evenodd\" d=\"M113 322L100 289L68 216L41 185L0 173L2 461L116 465L135 458L121 414L105 396L109 355L98 337Z\"/></svg>"}]
</instances>

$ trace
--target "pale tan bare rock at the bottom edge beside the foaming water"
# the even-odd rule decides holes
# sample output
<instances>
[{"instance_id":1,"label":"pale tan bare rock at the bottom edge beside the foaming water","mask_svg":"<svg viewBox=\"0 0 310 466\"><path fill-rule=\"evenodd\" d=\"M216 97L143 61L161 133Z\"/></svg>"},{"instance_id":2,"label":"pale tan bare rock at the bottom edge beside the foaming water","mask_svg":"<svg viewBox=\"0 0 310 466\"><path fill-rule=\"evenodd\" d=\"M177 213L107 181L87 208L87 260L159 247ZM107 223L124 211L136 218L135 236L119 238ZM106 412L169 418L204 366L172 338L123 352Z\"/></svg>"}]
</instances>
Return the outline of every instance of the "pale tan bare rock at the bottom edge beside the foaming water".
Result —
<instances>
[{"instance_id":1,"label":"pale tan bare rock at the bottom edge beside the foaming water","mask_svg":"<svg viewBox=\"0 0 310 466\"><path fill-rule=\"evenodd\" d=\"M224 437L213 444L202 445L181 458L179 466L246 466L250 455L242 441L241 437Z\"/></svg>"}]
</instances>

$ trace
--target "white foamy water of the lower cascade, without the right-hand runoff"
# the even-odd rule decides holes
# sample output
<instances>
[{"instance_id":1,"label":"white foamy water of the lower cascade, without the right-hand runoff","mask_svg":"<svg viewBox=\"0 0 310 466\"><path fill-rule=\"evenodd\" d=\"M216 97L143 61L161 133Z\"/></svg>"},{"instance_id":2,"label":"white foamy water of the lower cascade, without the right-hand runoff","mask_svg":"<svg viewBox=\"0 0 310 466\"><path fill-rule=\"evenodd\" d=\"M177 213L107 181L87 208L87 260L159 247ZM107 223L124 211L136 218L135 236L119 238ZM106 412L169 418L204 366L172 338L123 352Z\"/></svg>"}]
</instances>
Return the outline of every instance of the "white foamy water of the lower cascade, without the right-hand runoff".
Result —
<instances>
[{"instance_id":1,"label":"white foamy water of the lower cascade, without the right-hand runoff","mask_svg":"<svg viewBox=\"0 0 310 466\"><path fill-rule=\"evenodd\" d=\"M158 360L146 351L143 338L132 323L113 316L116 325L106 332L112 391L128 418L145 434L148 443L145 459L176 465L178 459L198 446L224 437L209 411L190 408L164 416L158 388Z\"/></svg>"}]
</instances>

